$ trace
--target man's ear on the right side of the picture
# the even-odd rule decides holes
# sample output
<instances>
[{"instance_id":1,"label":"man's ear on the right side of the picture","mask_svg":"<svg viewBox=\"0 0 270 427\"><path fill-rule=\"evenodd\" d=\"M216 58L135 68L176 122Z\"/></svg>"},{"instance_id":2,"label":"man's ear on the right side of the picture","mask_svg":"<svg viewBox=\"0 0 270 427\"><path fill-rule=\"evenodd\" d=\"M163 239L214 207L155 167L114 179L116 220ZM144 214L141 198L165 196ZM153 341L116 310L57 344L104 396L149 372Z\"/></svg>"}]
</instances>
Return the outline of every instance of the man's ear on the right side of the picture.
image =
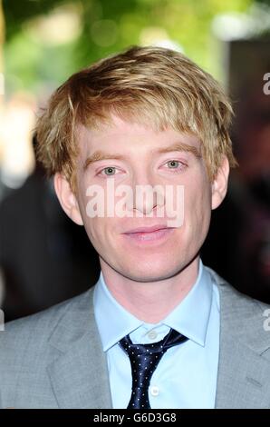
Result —
<instances>
[{"instance_id":1,"label":"man's ear on the right side of the picture","mask_svg":"<svg viewBox=\"0 0 270 427\"><path fill-rule=\"evenodd\" d=\"M216 209L227 194L227 180L229 163L225 156L220 164L215 179L212 183L212 209Z\"/></svg>"}]
</instances>

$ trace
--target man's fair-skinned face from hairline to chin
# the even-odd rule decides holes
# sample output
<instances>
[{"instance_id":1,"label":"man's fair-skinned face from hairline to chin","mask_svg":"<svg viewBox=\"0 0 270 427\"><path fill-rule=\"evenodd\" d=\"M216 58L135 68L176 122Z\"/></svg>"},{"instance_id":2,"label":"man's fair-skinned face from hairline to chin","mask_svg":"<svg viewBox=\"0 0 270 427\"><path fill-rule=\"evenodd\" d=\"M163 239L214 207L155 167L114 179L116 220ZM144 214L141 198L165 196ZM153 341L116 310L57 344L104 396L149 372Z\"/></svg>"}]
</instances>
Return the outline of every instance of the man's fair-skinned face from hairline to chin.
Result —
<instances>
[{"instance_id":1,"label":"man's fair-skinned face from hairline to chin","mask_svg":"<svg viewBox=\"0 0 270 427\"><path fill-rule=\"evenodd\" d=\"M114 117L113 124L102 130L81 127L78 139L81 153L76 197L86 232L100 255L101 267L110 266L139 282L159 281L179 273L198 255L213 207L213 184L200 155L198 138L172 129L155 132ZM102 160L102 156L108 158ZM90 217L87 206L92 185L97 185L101 194L108 194L109 180L113 180L115 190L123 184L132 190L133 205L129 204L126 211L129 214ZM172 193L165 193L161 203L155 196L148 202L139 201L138 185L161 185ZM184 198L177 206L172 199L176 199L180 186ZM115 198L118 200L119 195ZM164 229L169 224L166 205L171 202L174 208L184 208L183 223ZM161 204L163 218L158 216ZM156 225L163 230L135 233L139 227Z\"/></svg>"}]
</instances>

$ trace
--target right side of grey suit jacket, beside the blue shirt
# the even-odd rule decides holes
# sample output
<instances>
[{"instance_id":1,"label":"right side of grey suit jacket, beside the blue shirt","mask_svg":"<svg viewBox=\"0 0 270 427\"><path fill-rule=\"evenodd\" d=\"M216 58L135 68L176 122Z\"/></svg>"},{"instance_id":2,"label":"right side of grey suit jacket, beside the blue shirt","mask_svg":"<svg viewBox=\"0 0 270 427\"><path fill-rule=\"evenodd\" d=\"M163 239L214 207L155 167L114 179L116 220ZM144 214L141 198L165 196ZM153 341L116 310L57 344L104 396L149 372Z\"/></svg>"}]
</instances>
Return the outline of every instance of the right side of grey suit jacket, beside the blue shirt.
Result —
<instances>
[{"instance_id":1,"label":"right side of grey suit jacket, beside the blue shirt","mask_svg":"<svg viewBox=\"0 0 270 427\"><path fill-rule=\"evenodd\" d=\"M263 327L264 310L214 275L220 294L216 408L269 408L270 362L264 357L269 335Z\"/></svg>"}]
</instances>

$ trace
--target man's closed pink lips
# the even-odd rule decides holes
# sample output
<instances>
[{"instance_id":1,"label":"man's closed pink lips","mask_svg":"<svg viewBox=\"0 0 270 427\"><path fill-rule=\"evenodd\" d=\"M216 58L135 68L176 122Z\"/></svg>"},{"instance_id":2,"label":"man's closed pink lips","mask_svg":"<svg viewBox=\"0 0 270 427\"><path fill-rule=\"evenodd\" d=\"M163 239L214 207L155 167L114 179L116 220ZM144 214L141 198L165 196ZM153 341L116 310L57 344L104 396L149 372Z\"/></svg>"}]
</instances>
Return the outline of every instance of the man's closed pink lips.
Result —
<instances>
[{"instance_id":1,"label":"man's closed pink lips","mask_svg":"<svg viewBox=\"0 0 270 427\"><path fill-rule=\"evenodd\" d=\"M123 235L133 243L161 243L174 230L175 228L169 228L166 225L154 225L152 227L139 227L123 233Z\"/></svg>"}]
</instances>

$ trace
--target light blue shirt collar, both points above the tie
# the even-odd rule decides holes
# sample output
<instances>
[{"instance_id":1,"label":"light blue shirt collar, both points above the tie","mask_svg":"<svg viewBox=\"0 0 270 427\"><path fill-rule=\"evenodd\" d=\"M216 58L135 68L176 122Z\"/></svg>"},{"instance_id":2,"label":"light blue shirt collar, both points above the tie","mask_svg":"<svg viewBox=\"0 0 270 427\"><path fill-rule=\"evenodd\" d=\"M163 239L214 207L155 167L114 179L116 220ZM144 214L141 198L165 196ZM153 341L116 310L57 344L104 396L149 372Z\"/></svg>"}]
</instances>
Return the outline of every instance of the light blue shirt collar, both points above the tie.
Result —
<instances>
[{"instance_id":1,"label":"light blue shirt collar, both points above the tie","mask_svg":"<svg viewBox=\"0 0 270 427\"><path fill-rule=\"evenodd\" d=\"M211 277L200 260L196 283L184 300L160 324L166 324L203 346L211 311L212 288ZM145 324L114 299L104 282L102 272L95 286L93 303L104 352L123 336Z\"/></svg>"}]
</instances>

